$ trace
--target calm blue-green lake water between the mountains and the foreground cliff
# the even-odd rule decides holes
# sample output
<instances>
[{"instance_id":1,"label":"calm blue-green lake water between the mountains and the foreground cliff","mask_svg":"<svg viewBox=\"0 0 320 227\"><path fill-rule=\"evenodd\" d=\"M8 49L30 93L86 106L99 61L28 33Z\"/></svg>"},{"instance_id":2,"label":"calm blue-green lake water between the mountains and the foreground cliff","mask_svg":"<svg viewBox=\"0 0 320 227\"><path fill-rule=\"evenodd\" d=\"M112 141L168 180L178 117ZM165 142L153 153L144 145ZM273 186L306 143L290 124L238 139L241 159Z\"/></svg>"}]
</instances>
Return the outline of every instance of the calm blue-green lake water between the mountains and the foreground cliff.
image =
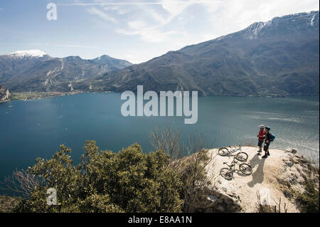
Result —
<instances>
[{"instance_id":1,"label":"calm blue-green lake water between the mountains and the foreground cliff","mask_svg":"<svg viewBox=\"0 0 320 227\"><path fill-rule=\"evenodd\" d=\"M52 157L59 144L73 149L75 162L87 139L113 151L139 142L149 152L156 126L180 129L185 140L200 131L206 144L223 147L256 144L258 125L270 125L277 137L271 147L319 157L319 97L199 97L196 125L184 125L184 117L123 117L123 102L119 93L87 93L0 103L1 179Z\"/></svg>"}]
</instances>

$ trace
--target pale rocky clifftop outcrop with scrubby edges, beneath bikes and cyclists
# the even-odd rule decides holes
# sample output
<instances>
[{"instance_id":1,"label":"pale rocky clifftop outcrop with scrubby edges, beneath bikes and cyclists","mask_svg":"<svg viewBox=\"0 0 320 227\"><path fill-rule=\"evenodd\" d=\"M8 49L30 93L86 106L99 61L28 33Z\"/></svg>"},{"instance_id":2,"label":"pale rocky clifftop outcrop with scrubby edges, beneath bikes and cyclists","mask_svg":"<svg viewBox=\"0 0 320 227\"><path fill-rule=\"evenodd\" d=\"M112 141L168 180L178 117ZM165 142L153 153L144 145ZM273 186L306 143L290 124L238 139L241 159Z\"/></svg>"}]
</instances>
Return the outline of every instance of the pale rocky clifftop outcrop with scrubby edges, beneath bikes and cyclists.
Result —
<instances>
[{"instance_id":1,"label":"pale rocky clifftop outcrop with scrubby edges, beneath bikes and cyclists","mask_svg":"<svg viewBox=\"0 0 320 227\"><path fill-rule=\"evenodd\" d=\"M283 151L270 149L270 157L262 159L257 155L256 147L242 147L248 154L247 164L252 174L245 176L235 171L232 180L220 176L220 169L230 164L233 156L221 157L218 149L211 149L214 160L208 165L208 174L215 185L216 194L208 197L213 212L257 212L258 200L261 205L278 206L281 200L289 213L299 212L296 196L305 191L307 181L311 181L319 190L319 168L311 164L297 150ZM238 169L238 166L236 166Z\"/></svg>"}]
</instances>

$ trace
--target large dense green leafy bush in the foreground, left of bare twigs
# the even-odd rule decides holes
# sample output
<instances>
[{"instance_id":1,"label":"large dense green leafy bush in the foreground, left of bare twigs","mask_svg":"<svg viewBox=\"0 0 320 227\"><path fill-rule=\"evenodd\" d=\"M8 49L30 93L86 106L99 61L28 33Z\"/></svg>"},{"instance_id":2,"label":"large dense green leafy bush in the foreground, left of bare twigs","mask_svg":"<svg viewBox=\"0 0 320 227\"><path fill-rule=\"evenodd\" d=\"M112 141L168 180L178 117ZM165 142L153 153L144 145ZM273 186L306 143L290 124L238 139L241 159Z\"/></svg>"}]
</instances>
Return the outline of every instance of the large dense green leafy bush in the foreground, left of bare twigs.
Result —
<instances>
[{"instance_id":1,"label":"large dense green leafy bush in the foreground, left of bare twigs","mask_svg":"<svg viewBox=\"0 0 320 227\"><path fill-rule=\"evenodd\" d=\"M119 153L99 152L87 141L81 162L73 165L70 149L64 145L52 159L36 159L29 167L43 184L16 212L180 212L181 179L169 168L164 152L142 153L133 144ZM57 191L58 206L46 204L46 191Z\"/></svg>"}]
</instances>

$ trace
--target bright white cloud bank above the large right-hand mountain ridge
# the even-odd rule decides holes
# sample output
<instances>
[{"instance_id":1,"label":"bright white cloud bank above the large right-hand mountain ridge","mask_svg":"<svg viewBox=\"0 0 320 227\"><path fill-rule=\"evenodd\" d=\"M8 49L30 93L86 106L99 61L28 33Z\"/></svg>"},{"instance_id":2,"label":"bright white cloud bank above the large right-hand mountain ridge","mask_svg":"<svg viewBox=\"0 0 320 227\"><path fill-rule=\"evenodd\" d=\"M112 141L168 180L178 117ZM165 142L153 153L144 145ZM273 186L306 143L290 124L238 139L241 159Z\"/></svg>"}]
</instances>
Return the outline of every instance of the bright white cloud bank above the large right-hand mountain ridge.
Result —
<instances>
[{"instance_id":1,"label":"bright white cloud bank above the large right-hand mountain ridge","mask_svg":"<svg viewBox=\"0 0 320 227\"><path fill-rule=\"evenodd\" d=\"M135 62L240 31L257 21L319 10L316 0L95 0L93 4L97 5L83 5L93 7L88 10L90 14L114 22L112 26L108 25L112 35L124 40L127 40L126 36L132 36L128 39L130 49L139 51L131 51L135 53ZM143 51L144 46L152 43L157 43L153 52Z\"/></svg>"}]
</instances>

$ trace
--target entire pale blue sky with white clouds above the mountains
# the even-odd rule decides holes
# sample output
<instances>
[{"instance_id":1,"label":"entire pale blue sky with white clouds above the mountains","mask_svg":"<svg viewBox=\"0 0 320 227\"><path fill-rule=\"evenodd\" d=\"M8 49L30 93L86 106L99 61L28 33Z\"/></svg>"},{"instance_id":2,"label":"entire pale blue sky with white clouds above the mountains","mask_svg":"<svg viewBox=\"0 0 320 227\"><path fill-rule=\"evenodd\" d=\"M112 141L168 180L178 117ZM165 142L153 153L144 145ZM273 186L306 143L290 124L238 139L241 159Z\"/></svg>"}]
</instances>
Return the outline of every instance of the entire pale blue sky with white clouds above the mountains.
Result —
<instances>
[{"instance_id":1,"label":"entire pale blue sky with white clouds above the mountains","mask_svg":"<svg viewBox=\"0 0 320 227\"><path fill-rule=\"evenodd\" d=\"M47 19L50 3L57 20ZM317 0L1 0L0 55L39 49L142 63L257 21L318 10Z\"/></svg>"}]
</instances>

